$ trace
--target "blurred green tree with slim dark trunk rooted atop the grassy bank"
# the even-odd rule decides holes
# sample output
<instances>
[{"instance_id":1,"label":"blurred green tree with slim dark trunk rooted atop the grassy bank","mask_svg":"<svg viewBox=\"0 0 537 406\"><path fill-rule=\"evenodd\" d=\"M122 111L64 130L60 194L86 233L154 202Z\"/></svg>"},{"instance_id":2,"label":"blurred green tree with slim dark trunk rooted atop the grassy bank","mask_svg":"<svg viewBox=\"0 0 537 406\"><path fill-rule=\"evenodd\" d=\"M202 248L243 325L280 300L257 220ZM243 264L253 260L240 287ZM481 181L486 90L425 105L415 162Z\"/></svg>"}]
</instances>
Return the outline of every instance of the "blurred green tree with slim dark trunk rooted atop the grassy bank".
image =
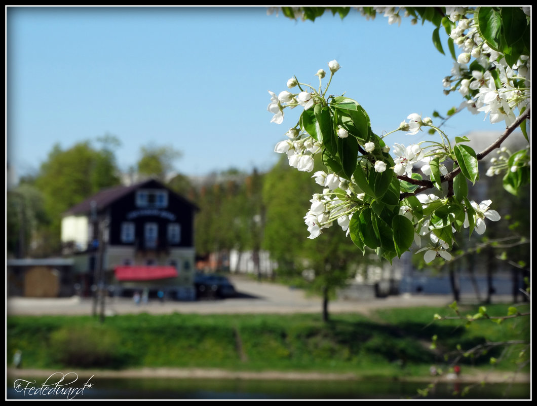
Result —
<instances>
[{"instance_id":1,"label":"blurred green tree with slim dark trunk rooted atop the grassy bank","mask_svg":"<svg viewBox=\"0 0 537 406\"><path fill-rule=\"evenodd\" d=\"M310 176L294 171L284 159L267 173L263 185L263 247L277 260L280 275L300 275L311 292L321 295L323 320L328 321L330 298L348 284L359 264L365 266L369 261L336 226L326 229L315 240L304 240L304 222L296 213L307 209L304 202L314 190Z\"/></svg>"}]
</instances>

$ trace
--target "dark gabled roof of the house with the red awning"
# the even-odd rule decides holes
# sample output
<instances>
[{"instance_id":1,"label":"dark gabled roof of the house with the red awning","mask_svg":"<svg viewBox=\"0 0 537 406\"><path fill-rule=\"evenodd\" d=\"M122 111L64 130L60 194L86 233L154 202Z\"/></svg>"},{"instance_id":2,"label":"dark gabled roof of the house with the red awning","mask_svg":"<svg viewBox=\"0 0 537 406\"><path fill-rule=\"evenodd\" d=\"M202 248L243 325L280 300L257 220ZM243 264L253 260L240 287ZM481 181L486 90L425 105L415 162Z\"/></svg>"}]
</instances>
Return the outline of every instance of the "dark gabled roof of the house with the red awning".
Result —
<instances>
[{"instance_id":1,"label":"dark gabled roof of the house with the red awning","mask_svg":"<svg viewBox=\"0 0 537 406\"><path fill-rule=\"evenodd\" d=\"M170 193L173 193L180 200L184 201L186 205L192 206L194 209L199 210L198 206L194 205L191 201L188 201L181 195L172 191L169 187L163 185L161 182L155 179L146 179L142 182L135 183L129 186L113 186L97 192L96 194L90 196L88 199L81 201L77 205L71 207L68 211L63 213L63 216L76 215L76 214L89 214L91 213L91 202L95 201L97 212L103 211L106 207L110 206L114 201L124 197L126 194L133 192L149 184L156 184Z\"/></svg>"}]
</instances>

